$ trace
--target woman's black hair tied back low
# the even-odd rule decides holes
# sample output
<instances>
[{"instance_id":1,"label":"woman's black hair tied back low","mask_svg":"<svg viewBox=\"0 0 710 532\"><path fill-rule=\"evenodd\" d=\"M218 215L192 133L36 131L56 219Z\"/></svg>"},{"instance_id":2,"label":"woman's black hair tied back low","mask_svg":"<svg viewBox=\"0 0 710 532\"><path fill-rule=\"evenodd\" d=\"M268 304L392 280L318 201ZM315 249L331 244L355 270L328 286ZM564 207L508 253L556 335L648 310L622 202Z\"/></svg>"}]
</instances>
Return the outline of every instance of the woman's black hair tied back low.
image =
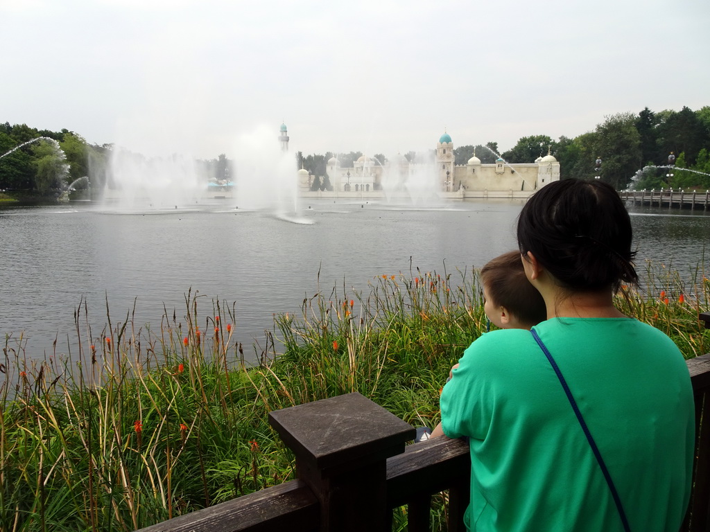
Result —
<instances>
[{"instance_id":1,"label":"woman's black hair tied back low","mask_svg":"<svg viewBox=\"0 0 710 532\"><path fill-rule=\"evenodd\" d=\"M518 216L518 247L569 289L638 282L631 220L616 190L601 181L563 179L532 194Z\"/></svg>"}]
</instances>

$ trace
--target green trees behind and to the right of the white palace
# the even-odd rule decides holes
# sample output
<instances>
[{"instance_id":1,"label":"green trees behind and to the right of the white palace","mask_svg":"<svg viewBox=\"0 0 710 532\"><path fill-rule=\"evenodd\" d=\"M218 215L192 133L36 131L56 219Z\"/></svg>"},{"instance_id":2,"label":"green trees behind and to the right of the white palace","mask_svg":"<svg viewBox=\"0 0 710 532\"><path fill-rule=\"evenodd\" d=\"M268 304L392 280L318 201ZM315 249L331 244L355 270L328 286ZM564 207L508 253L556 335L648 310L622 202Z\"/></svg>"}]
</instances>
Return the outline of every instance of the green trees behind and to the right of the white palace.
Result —
<instances>
[{"instance_id":1,"label":"green trees behind and to the right of the white palace","mask_svg":"<svg viewBox=\"0 0 710 532\"><path fill-rule=\"evenodd\" d=\"M415 157L426 159L427 154L405 153L413 161ZM537 157L550 153L559 161L560 174L566 177L591 179L599 177L613 184L618 190L659 189L677 187L685 189L710 189L710 106L698 111L683 107L681 111L653 112L648 107L634 113L619 113L605 118L603 123L576 138L564 135L553 140L548 135L530 135L520 138L510 150L500 153L497 142L486 145L461 145L455 147L455 164L465 165L473 155L481 163L493 164L500 156L510 163L534 162ZM673 154L674 170L667 172ZM298 155L299 167L312 174L324 176L327 160L334 154ZM342 167L351 167L362 155L361 152L337 154ZM376 154L375 164L385 164L387 157ZM601 167L596 167L601 160ZM683 169L688 171L683 171ZM667 175L670 174L671 175Z\"/></svg>"}]
</instances>

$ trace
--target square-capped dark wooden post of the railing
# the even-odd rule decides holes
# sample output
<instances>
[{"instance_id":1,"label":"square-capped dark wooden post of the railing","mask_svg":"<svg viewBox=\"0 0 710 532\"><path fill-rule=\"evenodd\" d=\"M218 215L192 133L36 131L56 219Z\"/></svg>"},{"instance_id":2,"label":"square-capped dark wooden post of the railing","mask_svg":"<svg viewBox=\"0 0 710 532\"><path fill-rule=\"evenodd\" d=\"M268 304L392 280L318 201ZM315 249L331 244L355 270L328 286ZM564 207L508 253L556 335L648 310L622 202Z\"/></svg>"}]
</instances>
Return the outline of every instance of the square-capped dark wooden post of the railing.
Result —
<instances>
[{"instance_id":1,"label":"square-capped dark wooden post of the railing","mask_svg":"<svg viewBox=\"0 0 710 532\"><path fill-rule=\"evenodd\" d=\"M321 532L391 529L386 460L404 452L415 428L359 393L273 411L269 423L320 501Z\"/></svg>"}]
</instances>

